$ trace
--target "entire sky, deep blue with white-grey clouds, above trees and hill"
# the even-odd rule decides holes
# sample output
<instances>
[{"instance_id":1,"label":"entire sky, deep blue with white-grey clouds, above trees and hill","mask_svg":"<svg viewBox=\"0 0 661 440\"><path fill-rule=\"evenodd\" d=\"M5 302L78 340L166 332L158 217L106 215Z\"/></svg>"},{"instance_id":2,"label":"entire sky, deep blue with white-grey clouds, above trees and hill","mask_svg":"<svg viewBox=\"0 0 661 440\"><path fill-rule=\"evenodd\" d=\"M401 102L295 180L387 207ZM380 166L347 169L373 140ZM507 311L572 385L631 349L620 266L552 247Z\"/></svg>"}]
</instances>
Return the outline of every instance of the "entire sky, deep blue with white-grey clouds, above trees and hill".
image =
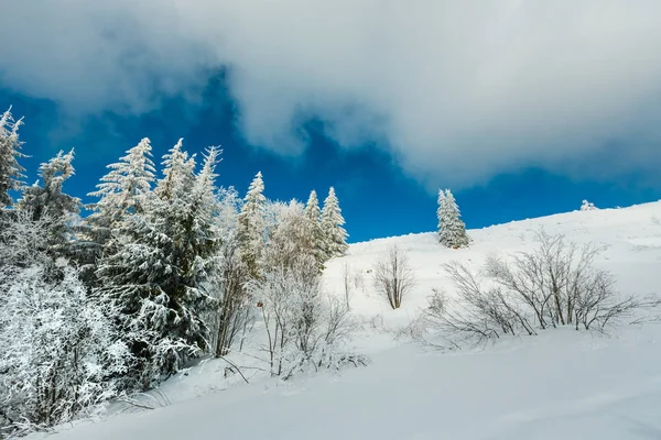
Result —
<instances>
[{"instance_id":1,"label":"entire sky, deep blue with white-grey clouds, above trees and hill","mask_svg":"<svg viewBox=\"0 0 661 440\"><path fill-rule=\"evenodd\" d=\"M143 136L220 145L240 193L258 170L272 199L334 186L354 242L433 230L438 187L469 228L661 198L655 2L22 3L0 108L31 180L76 148L83 198Z\"/></svg>"}]
</instances>

